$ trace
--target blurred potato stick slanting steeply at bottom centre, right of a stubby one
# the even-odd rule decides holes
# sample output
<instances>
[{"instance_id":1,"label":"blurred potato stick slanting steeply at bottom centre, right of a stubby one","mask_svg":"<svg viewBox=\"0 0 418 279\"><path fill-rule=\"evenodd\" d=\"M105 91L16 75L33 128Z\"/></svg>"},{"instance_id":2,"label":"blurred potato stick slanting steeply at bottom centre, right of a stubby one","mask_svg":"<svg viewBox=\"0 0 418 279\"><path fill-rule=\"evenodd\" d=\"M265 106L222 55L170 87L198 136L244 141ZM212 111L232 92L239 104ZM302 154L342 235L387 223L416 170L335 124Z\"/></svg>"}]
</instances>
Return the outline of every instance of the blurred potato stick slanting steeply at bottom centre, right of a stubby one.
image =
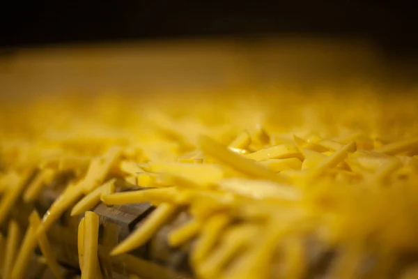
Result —
<instances>
[{"instance_id":1,"label":"blurred potato stick slanting steeply at bottom centre, right of a stubby one","mask_svg":"<svg viewBox=\"0 0 418 279\"><path fill-rule=\"evenodd\" d=\"M196 245L192 250L192 263L196 266L201 264L203 259L208 256L210 250L217 243L219 236L230 222L230 216L226 214L217 214L210 217L203 226L201 235L196 241Z\"/></svg>"}]
</instances>

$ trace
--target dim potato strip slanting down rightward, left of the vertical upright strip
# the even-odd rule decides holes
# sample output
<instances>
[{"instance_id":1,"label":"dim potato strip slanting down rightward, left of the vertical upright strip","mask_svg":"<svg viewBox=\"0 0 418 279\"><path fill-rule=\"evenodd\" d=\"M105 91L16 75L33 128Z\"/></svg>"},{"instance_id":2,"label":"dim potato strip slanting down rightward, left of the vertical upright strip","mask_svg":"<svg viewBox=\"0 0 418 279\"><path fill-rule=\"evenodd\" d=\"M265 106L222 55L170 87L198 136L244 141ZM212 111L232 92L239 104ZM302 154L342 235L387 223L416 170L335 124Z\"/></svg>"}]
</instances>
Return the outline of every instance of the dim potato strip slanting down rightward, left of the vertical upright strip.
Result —
<instances>
[{"instance_id":1,"label":"dim potato strip slanting down rightward, left of the vertical upright strip","mask_svg":"<svg viewBox=\"0 0 418 279\"><path fill-rule=\"evenodd\" d=\"M38 212L33 211L31 216L29 216L29 224L33 226L34 231L36 231L36 238L38 239L38 245L40 251L42 252L43 257L47 262L47 266L51 269L52 273L56 278L63 278L61 273L61 268L56 262L56 258L54 253L52 252L51 246L49 245L49 241L47 239L47 235L45 232L40 231L40 218L38 216Z\"/></svg>"}]
</instances>

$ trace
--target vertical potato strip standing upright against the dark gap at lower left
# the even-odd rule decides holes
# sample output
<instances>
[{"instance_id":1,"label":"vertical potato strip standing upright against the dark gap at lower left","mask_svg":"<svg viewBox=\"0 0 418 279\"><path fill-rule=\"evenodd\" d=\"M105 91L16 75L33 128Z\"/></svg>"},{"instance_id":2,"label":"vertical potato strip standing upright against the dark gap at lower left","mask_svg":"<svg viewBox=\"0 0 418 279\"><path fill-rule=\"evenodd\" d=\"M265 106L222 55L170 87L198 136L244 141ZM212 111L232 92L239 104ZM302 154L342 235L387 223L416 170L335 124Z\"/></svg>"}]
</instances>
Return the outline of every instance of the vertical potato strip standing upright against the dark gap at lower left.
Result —
<instances>
[{"instance_id":1,"label":"vertical potato strip standing upright against the dark gap at lower left","mask_svg":"<svg viewBox=\"0 0 418 279\"><path fill-rule=\"evenodd\" d=\"M84 216L82 279L102 278L98 264L99 216L87 211Z\"/></svg>"}]
</instances>

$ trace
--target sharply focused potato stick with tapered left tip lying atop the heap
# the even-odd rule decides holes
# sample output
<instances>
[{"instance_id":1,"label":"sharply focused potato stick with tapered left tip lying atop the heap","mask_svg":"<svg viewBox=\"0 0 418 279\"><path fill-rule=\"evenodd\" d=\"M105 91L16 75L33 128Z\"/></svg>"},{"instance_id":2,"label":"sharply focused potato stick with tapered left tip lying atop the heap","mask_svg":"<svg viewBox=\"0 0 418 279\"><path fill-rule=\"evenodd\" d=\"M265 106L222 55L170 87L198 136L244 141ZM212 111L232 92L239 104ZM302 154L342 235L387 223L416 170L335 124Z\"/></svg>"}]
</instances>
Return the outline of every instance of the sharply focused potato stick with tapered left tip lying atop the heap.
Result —
<instances>
[{"instance_id":1,"label":"sharply focused potato stick with tapered left tip lying atop the heap","mask_svg":"<svg viewBox=\"0 0 418 279\"><path fill-rule=\"evenodd\" d=\"M254 153L245 154L246 158L256 161L268 159L300 158L300 151L293 145L276 145L266 149L260 149Z\"/></svg>"}]
</instances>

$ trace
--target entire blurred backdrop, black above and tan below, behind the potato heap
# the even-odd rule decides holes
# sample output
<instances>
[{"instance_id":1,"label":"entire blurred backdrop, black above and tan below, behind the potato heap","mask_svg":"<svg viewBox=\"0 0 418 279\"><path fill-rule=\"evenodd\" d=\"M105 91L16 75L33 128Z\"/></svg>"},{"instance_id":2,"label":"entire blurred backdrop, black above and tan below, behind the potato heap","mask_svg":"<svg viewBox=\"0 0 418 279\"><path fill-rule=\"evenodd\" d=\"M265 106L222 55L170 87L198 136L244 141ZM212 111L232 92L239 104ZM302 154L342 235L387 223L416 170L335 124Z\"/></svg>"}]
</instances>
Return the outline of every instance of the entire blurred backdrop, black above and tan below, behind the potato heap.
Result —
<instances>
[{"instance_id":1,"label":"entire blurred backdrop, black above and tan below, behind the potato heap","mask_svg":"<svg viewBox=\"0 0 418 279\"><path fill-rule=\"evenodd\" d=\"M8 1L0 15L8 97L418 76L412 0Z\"/></svg>"}]
</instances>

